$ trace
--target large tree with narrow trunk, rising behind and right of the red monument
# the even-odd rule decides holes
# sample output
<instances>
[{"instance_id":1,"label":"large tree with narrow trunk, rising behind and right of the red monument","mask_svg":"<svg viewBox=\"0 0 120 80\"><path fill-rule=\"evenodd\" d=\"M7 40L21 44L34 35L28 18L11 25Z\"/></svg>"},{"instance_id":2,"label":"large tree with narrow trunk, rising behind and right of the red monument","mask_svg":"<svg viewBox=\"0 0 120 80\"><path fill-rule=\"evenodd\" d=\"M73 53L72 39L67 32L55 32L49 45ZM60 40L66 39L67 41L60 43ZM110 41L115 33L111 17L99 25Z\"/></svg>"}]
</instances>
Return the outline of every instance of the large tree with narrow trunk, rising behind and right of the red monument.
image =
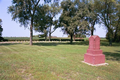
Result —
<instances>
[{"instance_id":1,"label":"large tree with narrow trunk, rising behind and right of the red monument","mask_svg":"<svg viewBox=\"0 0 120 80\"><path fill-rule=\"evenodd\" d=\"M107 35L109 40L109 45L112 45L114 36L114 21L116 21L116 10L117 0L94 0L96 11L99 13L99 17L105 28L107 29Z\"/></svg>"}]
</instances>

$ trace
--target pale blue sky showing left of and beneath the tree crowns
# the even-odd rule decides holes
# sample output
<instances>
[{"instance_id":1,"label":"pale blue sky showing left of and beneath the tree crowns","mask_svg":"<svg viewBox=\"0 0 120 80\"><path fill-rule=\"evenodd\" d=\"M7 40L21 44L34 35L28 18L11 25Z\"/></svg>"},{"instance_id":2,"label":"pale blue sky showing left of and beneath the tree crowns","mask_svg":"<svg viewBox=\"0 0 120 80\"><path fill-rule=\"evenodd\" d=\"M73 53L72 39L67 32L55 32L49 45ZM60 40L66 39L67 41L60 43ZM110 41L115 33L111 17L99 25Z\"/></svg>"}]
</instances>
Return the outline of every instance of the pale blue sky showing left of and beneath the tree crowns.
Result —
<instances>
[{"instance_id":1,"label":"pale blue sky showing left of and beneath the tree crowns","mask_svg":"<svg viewBox=\"0 0 120 80\"><path fill-rule=\"evenodd\" d=\"M8 6L12 5L12 0L0 0L0 19L2 19L2 27L3 37L29 37L30 31L29 27L24 28L24 26L20 27L20 24L16 21L12 21L11 14L7 13ZM42 0L41 0L42 1ZM33 35L39 34L38 32L33 32ZM101 25L96 25L96 31L94 32L94 35L98 35L100 37L105 37L106 30ZM57 29L52 36L57 37L67 37L67 35L64 35L61 29Z\"/></svg>"}]
</instances>

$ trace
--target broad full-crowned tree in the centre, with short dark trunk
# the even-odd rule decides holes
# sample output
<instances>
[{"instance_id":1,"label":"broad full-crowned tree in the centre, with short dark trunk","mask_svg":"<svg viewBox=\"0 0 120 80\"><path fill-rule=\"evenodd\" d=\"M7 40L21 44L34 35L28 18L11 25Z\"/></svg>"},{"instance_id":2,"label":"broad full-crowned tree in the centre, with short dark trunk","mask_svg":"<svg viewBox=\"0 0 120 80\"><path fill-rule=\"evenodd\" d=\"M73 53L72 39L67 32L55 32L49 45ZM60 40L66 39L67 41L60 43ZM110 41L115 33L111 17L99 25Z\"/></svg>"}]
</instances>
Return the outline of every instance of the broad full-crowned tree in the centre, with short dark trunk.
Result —
<instances>
[{"instance_id":1,"label":"broad full-crowned tree in the centre, with short dark trunk","mask_svg":"<svg viewBox=\"0 0 120 80\"><path fill-rule=\"evenodd\" d=\"M86 33L88 29L86 17L89 11L85 2L85 0L65 0L61 3L63 11L59 20L60 26L70 35L70 43L73 41L74 34Z\"/></svg>"}]
</instances>

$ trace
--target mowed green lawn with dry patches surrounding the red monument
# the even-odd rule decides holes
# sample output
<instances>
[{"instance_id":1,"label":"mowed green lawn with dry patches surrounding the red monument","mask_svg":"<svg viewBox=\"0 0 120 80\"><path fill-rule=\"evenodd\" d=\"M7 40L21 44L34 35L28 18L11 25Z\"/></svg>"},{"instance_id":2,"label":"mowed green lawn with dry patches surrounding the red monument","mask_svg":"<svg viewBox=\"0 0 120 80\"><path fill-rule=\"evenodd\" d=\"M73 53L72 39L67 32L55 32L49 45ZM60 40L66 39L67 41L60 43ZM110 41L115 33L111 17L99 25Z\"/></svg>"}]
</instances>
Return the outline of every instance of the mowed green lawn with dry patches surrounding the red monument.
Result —
<instances>
[{"instance_id":1,"label":"mowed green lawn with dry patches surrounding the red monument","mask_svg":"<svg viewBox=\"0 0 120 80\"><path fill-rule=\"evenodd\" d=\"M0 44L0 80L120 80L120 43L101 49L109 65L82 63L88 42Z\"/></svg>"}]
</instances>

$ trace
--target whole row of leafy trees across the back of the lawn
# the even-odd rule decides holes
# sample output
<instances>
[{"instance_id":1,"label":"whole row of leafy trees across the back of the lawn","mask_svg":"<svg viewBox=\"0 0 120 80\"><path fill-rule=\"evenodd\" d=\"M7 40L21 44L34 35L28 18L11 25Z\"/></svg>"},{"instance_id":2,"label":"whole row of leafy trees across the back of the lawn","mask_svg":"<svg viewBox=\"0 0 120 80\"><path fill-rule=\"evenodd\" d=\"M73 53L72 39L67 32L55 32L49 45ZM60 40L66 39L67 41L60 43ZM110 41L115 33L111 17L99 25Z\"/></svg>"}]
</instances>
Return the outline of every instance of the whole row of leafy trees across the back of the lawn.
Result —
<instances>
[{"instance_id":1,"label":"whole row of leafy trees across the back of the lawn","mask_svg":"<svg viewBox=\"0 0 120 80\"><path fill-rule=\"evenodd\" d=\"M44 0L43 4L40 0L12 0L8 12L21 25L30 25L30 45L33 29L44 33L46 39L49 34L50 40L51 34L61 28L72 43L75 35L94 35L95 24L107 30L109 45L120 42L120 0Z\"/></svg>"}]
</instances>

